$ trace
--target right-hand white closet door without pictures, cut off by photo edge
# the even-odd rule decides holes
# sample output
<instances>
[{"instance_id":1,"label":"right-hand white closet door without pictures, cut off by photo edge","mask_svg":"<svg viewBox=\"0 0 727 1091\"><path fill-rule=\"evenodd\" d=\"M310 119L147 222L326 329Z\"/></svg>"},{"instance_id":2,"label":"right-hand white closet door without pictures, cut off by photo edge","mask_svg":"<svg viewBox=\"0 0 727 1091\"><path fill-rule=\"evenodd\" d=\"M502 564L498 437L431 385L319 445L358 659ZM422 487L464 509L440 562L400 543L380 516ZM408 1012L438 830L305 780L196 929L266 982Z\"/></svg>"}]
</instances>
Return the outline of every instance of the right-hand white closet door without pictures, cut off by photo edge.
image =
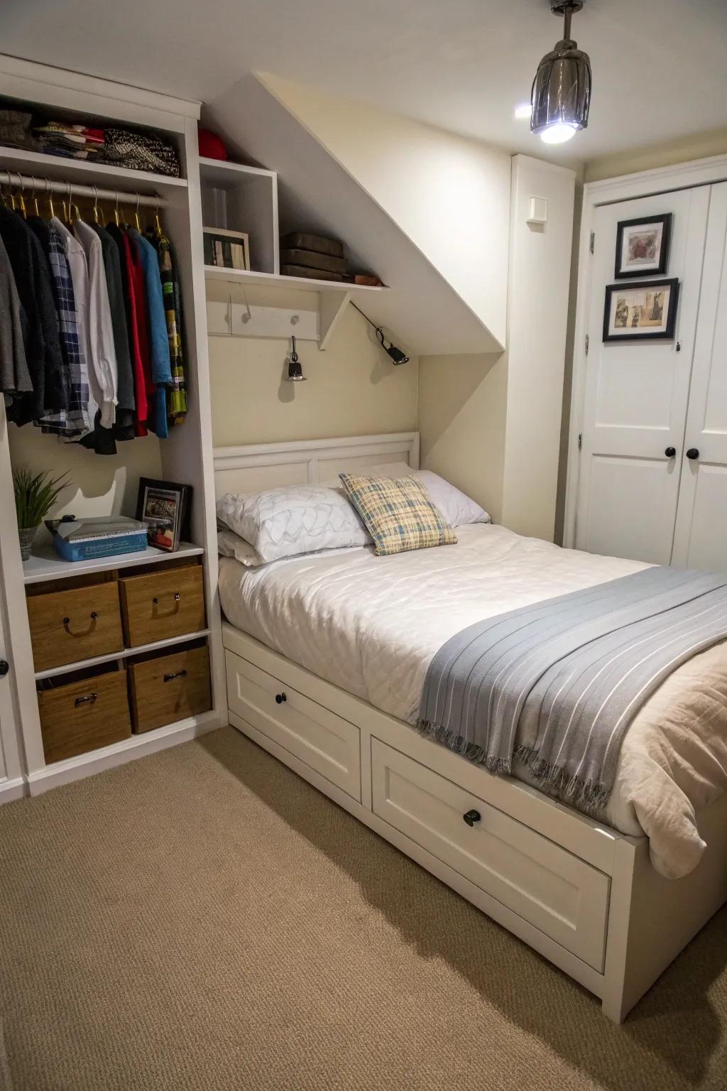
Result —
<instances>
[{"instance_id":1,"label":"right-hand white closet door without pictures, cut off by photo edge","mask_svg":"<svg viewBox=\"0 0 727 1091\"><path fill-rule=\"evenodd\" d=\"M726 240L723 182L712 187L674 542L674 563L687 568L727 570Z\"/></svg>"}]
</instances>

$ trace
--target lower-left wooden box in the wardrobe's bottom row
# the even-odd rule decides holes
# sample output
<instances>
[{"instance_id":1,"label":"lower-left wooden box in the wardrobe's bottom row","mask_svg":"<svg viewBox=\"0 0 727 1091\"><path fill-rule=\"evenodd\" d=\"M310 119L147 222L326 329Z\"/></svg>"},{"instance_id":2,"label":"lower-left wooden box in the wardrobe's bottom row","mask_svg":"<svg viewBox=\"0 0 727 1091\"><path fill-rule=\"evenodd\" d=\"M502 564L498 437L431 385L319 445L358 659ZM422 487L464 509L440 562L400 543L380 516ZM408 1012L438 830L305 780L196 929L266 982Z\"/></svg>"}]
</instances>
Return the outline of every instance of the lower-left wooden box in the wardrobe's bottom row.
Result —
<instances>
[{"instance_id":1,"label":"lower-left wooden box in the wardrobe's bottom row","mask_svg":"<svg viewBox=\"0 0 727 1091\"><path fill-rule=\"evenodd\" d=\"M131 738L126 672L102 669L38 693L46 762L62 762Z\"/></svg>"}]
</instances>

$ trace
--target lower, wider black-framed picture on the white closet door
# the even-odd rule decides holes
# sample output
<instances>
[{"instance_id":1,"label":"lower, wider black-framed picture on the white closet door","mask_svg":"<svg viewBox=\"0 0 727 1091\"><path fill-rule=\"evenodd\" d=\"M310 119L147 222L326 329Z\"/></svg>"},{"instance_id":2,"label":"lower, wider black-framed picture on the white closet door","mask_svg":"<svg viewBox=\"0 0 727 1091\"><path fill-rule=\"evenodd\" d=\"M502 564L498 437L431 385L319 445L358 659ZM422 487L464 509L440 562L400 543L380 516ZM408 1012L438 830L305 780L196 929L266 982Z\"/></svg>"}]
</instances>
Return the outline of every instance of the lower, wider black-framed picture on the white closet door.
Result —
<instances>
[{"instance_id":1,"label":"lower, wider black-framed picture on the white closet door","mask_svg":"<svg viewBox=\"0 0 727 1091\"><path fill-rule=\"evenodd\" d=\"M668 340L674 337L679 280L609 284L604 308L604 340Z\"/></svg>"}]
</instances>

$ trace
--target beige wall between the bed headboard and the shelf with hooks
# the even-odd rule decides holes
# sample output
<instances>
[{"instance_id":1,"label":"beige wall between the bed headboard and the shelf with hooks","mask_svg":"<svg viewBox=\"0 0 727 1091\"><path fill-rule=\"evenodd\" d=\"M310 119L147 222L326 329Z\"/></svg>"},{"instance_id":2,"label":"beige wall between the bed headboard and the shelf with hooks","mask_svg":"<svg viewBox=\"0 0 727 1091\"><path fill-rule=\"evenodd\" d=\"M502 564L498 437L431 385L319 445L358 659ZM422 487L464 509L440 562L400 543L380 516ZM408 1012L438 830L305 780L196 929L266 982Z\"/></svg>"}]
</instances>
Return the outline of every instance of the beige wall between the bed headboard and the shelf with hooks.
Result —
<instances>
[{"instance_id":1,"label":"beige wall between the bed headboard and the shelf with hooks","mask_svg":"<svg viewBox=\"0 0 727 1091\"><path fill-rule=\"evenodd\" d=\"M325 352L298 343L307 382L283 381L289 348L278 338L209 338L216 446L416 429L416 360L393 367L353 308Z\"/></svg>"}]
</instances>

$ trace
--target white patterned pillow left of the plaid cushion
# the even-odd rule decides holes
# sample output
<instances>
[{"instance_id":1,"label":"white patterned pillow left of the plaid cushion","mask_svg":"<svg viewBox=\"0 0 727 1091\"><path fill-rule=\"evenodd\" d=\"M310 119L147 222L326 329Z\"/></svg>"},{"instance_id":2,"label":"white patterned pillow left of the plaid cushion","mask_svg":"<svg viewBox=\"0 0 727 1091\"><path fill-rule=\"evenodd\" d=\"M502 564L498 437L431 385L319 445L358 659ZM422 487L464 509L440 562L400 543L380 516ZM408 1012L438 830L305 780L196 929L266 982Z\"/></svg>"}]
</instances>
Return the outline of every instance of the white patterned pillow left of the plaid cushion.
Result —
<instances>
[{"instance_id":1,"label":"white patterned pillow left of the plaid cushion","mask_svg":"<svg viewBox=\"0 0 727 1091\"><path fill-rule=\"evenodd\" d=\"M283 485L250 495L228 492L217 501L217 518L250 542L263 561L371 544L343 490L320 484Z\"/></svg>"}]
</instances>

